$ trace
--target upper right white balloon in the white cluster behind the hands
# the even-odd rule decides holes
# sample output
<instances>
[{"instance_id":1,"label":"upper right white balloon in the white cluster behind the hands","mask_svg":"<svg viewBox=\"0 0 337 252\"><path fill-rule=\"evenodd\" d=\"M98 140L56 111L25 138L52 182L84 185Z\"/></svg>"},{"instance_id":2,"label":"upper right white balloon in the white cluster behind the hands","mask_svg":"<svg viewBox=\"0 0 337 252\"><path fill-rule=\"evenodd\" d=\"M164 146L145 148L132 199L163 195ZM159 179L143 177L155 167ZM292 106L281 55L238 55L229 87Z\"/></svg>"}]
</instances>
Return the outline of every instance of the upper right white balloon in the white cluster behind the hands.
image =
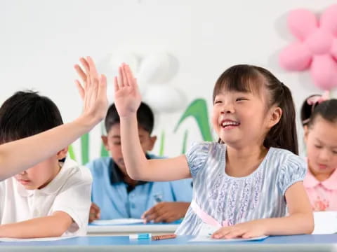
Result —
<instances>
[{"instance_id":1,"label":"upper right white balloon in the white cluster behind the hands","mask_svg":"<svg viewBox=\"0 0 337 252\"><path fill-rule=\"evenodd\" d=\"M140 64L138 79L145 84L166 83L176 75L178 61L166 52L152 52Z\"/></svg>"}]
</instances>

